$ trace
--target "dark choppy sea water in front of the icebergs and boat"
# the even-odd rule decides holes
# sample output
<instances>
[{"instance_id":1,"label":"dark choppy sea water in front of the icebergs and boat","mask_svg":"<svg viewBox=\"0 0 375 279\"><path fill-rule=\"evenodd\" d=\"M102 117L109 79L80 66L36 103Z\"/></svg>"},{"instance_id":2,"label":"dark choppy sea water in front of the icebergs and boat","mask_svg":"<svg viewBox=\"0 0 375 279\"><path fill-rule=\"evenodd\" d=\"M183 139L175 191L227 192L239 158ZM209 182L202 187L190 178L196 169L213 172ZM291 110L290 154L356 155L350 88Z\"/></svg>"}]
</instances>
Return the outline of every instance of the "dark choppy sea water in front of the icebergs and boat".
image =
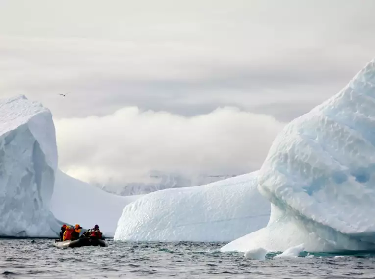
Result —
<instances>
[{"instance_id":1,"label":"dark choppy sea water in front of the icebergs and boat","mask_svg":"<svg viewBox=\"0 0 375 279\"><path fill-rule=\"evenodd\" d=\"M51 239L0 239L0 278L375 278L375 254L245 259L225 243L115 242L59 249Z\"/></svg>"}]
</instances>

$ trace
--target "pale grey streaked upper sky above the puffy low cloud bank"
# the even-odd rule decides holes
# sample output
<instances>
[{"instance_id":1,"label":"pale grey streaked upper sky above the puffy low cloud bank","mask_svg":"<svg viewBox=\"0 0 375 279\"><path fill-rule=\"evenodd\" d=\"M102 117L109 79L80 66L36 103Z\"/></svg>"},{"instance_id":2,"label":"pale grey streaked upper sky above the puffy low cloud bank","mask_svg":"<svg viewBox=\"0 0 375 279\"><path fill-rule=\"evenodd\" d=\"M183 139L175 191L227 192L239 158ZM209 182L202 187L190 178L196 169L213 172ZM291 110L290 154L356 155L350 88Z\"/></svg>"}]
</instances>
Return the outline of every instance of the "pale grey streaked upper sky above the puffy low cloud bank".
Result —
<instances>
[{"instance_id":1,"label":"pale grey streaked upper sky above the puffy low cloud bank","mask_svg":"<svg viewBox=\"0 0 375 279\"><path fill-rule=\"evenodd\" d=\"M372 0L3 1L0 96L25 94L57 118L235 106L290 121L375 55L374 9Z\"/></svg>"}]
</instances>

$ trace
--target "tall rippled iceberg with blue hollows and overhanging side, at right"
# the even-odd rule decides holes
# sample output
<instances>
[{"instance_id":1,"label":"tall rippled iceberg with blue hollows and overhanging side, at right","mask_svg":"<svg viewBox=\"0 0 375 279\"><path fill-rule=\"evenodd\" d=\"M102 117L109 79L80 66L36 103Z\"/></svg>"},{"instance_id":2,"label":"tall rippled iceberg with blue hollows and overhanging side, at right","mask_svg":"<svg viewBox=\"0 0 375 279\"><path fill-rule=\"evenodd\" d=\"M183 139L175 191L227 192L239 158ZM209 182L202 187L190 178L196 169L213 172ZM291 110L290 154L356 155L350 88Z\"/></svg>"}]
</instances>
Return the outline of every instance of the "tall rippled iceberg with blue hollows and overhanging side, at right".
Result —
<instances>
[{"instance_id":1,"label":"tall rippled iceberg with blue hollows and overhanging side, at right","mask_svg":"<svg viewBox=\"0 0 375 279\"><path fill-rule=\"evenodd\" d=\"M375 248L375 60L278 135L258 176L266 228L222 251Z\"/></svg>"}]
</instances>

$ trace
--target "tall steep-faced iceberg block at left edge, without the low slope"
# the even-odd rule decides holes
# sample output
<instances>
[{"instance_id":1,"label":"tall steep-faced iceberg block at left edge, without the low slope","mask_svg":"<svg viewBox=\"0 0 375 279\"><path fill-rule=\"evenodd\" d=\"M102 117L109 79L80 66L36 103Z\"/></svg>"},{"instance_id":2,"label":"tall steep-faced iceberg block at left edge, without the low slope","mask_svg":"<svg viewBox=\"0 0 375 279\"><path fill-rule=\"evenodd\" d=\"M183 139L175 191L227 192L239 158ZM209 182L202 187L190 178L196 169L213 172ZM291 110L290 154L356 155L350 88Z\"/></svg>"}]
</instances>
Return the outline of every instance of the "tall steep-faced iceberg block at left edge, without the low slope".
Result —
<instances>
[{"instance_id":1,"label":"tall steep-faced iceberg block at left edge, without the low slope","mask_svg":"<svg viewBox=\"0 0 375 279\"><path fill-rule=\"evenodd\" d=\"M0 235L54 236L57 147L52 115L25 96L0 100Z\"/></svg>"}]
</instances>

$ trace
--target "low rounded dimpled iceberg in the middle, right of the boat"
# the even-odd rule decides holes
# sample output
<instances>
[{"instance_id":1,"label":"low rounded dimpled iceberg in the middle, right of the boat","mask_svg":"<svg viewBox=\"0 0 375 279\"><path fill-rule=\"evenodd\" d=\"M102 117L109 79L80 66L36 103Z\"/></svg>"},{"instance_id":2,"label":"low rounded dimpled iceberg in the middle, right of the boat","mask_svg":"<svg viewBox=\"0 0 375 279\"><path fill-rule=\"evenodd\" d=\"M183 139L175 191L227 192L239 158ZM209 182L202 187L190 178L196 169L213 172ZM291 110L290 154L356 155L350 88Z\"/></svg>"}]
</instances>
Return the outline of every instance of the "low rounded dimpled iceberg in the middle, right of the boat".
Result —
<instances>
[{"instance_id":1,"label":"low rounded dimpled iceberg in the middle, right of the boat","mask_svg":"<svg viewBox=\"0 0 375 279\"><path fill-rule=\"evenodd\" d=\"M264 227L270 203L256 188L256 172L205 186L143 196L124 208L115 240L230 241Z\"/></svg>"}]
</instances>

